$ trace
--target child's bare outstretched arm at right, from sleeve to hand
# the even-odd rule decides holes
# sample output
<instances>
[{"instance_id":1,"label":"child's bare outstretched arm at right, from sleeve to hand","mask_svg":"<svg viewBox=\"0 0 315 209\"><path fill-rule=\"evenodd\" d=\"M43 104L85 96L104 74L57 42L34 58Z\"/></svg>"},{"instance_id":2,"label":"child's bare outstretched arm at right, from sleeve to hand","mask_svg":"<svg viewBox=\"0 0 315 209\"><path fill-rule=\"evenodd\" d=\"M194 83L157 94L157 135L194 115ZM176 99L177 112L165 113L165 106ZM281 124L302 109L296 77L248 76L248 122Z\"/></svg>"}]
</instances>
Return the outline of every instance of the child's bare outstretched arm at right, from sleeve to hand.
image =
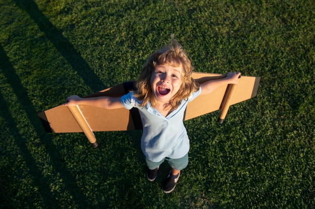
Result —
<instances>
[{"instance_id":1,"label":"child's bare outstretched arm at right, from sleeve to hand","mask_svg":"<svg viewBox=\"0 0 315 209\"><path fill-rule=\"evenodd\" d=\"M226 85L226 84L236 84L239 85L238 83L238 78L240 77L241 73L237 72L229 72L225 78L218 79L218 80L212 80L205 82L203 84L200 84L201 87L201 94L209 94L215 89L217 89L220 86Z\"/></svg>"}]
</instances>

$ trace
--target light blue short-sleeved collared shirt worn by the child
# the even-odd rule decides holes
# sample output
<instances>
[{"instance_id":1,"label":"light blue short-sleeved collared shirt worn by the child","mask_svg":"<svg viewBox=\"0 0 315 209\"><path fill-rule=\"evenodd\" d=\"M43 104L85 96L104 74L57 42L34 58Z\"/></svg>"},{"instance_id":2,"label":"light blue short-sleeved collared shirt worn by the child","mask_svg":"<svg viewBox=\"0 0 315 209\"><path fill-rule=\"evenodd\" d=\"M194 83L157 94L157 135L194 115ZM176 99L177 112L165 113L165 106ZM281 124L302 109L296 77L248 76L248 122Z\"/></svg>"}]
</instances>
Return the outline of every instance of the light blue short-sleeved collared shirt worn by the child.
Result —
<instances>
[{"instance_id":1,"label":"light blue short-sleeved collared shirt worn by the child","mask_svg":"<svg viewBox=\"0 0 315 209\"><path fill-rule=\"evenodd\" d=\"M182 100L181 105L167 117L153 108L149 102L141 107L141 101L137 100L132 92L121 97L121 104L125 108L130 110L136 107L139 110L143 125L141 149L148 160L160 162L165 157L178 159L188 153L189 138L183 118L188 102L200 93L201 88L192 93L187 101Z\"/></svg>"}]
</instances>

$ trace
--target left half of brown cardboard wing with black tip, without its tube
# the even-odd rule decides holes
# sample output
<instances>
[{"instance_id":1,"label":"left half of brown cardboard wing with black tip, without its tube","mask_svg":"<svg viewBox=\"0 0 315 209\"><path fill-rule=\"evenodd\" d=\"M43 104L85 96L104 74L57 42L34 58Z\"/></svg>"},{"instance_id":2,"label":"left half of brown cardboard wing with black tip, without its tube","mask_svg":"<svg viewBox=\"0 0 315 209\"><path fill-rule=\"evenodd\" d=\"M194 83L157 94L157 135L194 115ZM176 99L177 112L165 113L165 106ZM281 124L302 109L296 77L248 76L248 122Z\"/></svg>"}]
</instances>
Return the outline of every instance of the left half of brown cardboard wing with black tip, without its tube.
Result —
<instances>
[{"instance_id":1,"label":"left half of brown cardboard wing with black tip, without its tube","mask_svg":"<svg viewBox=\"0 0 315 209\"><path fill-rule=\"evenodd\" d=\"M131 90L132 87L132 82L126 82L88 95L86 98L99 96L119 97ZM125 131L142 127L141 120L136 115L137 110L134 108L132 110L125 108L108 110L83 105L80 105L79 108L92 131ZM72 133L83 131L66 106L59 105L39 113L38 116L46 132ZM136 126L132 119L134 119Z\"/></svg>"}]
</instances>

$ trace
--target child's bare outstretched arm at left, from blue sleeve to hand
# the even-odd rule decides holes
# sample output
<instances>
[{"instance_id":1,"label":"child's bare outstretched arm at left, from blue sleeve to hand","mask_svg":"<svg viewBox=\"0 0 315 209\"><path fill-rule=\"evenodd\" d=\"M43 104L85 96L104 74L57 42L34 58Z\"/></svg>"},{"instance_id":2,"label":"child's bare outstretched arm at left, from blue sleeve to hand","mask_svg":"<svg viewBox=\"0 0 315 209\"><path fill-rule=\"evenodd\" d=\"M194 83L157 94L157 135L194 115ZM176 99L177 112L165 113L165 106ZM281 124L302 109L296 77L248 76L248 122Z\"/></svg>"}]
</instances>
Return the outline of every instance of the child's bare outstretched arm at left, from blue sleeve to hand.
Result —
<instances>
[{"instance_id":1,"label":"child's bare outstretched arm at left, from blue sleeve to hand","mask_svg":"<svg viewBox=\"0 0 315 209\"><path fill-rule=\"evenodd\" d=\"M89 105L106 109L117 109L123 107L123 105L120 102L120 97L81 98L77 95L72 95L66 98L66 102L63 103L63 105L64 106Z\"/></svg>"}]
</instances>

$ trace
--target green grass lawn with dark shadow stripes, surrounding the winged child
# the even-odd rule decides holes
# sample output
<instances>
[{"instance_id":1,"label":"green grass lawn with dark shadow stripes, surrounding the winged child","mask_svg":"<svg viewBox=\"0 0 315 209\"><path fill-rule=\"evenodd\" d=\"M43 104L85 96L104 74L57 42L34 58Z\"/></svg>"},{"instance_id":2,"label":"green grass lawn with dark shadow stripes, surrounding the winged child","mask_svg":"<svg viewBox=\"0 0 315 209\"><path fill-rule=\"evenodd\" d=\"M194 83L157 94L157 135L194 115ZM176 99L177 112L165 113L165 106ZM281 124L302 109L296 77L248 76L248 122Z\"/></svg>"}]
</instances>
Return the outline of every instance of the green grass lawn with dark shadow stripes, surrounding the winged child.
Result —
<instances>
[{"instance_id":1,"label":"green grass lawn with dark shadow stripes, surrounding the winged child","mask_svg":"<svg viewBox=\"0 0 315 209\"><path fill-rule=\"evenodd\" d=\"M0 1L0 208L315 208L313 1ZM47 134L37 113L135 80L170 35L196 71L261 76L256 98L185 122L171 194L140 131Z\"/></svg>"}]
</instances>

